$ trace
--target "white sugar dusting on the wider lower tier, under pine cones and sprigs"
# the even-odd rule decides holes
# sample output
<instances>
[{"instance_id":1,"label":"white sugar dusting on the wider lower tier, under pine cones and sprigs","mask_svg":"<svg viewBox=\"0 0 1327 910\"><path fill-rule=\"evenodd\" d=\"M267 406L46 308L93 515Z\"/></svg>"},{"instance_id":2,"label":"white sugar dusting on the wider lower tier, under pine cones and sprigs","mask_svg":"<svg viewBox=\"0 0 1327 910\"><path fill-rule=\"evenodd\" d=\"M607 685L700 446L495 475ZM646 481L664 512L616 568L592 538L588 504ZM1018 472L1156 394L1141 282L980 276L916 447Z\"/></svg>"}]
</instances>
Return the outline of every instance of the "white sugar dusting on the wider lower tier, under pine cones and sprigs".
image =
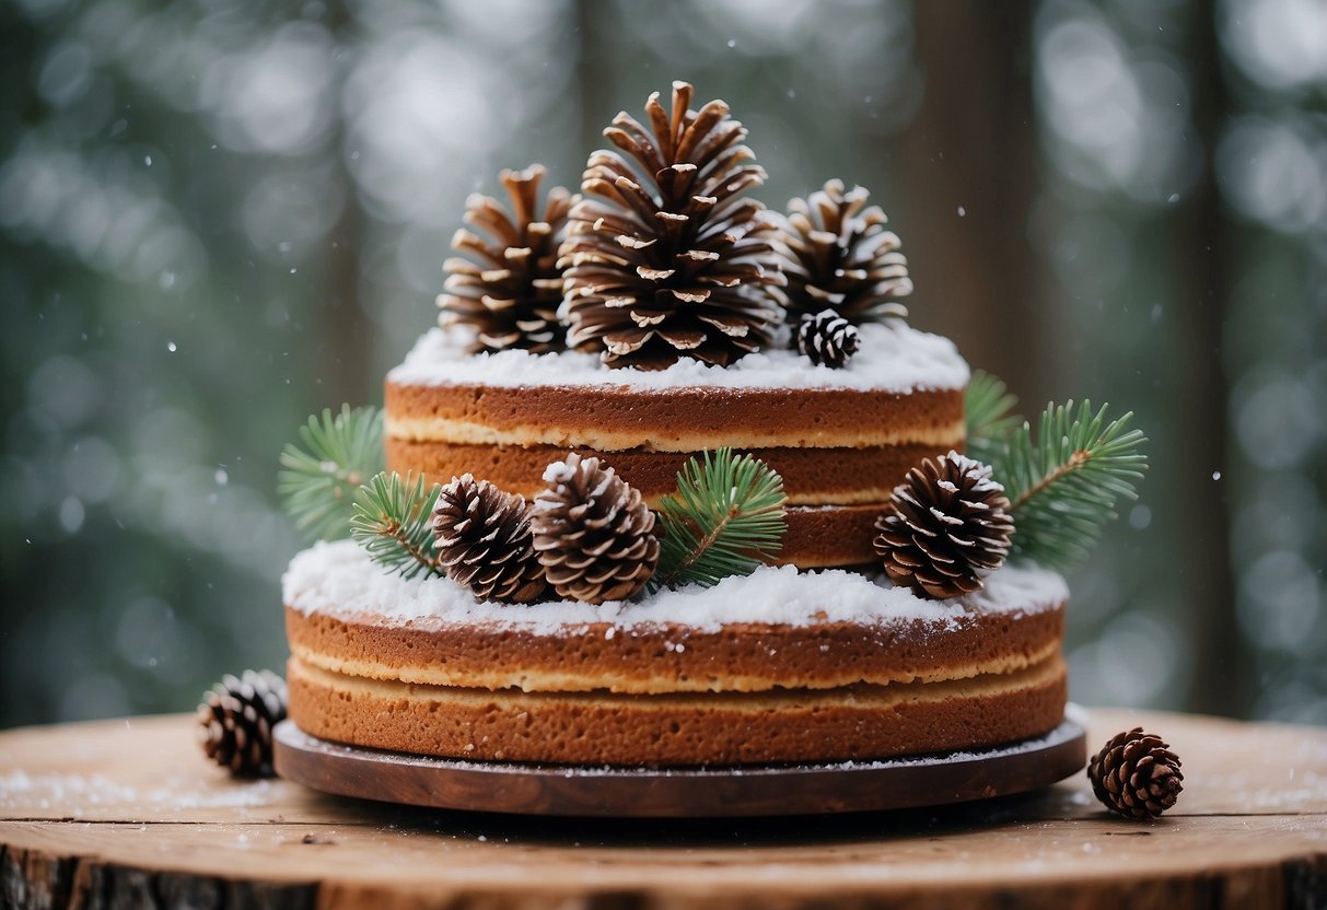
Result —
<instances>
[{"instance_id":1,"label":"white sugar dusting on the wider lower tier, under pine cones and sprigs","mask_svg":"<svg viewBox=\"0 0 1327 910\"><path fill-rule=\"evenodd\" d=\"M1005 566L986 588L950 601L929 601L855 572L798 572L760 566L714 588L691 585L641 601L592 605L553 601L484 604L446 578L402 578L348 540L320 543L297 554L281 578L284 602L301 613L336 617L374 614L405 625L417 619L503 625L535 634L567 634L606 622L618 631L682 625L714 631L726 623L809 626L819 622L889 623L925 621L945 629L966 613L1039 613L1068 598L1064 580L1035 566Z\"/></svg>"}]
</instances>

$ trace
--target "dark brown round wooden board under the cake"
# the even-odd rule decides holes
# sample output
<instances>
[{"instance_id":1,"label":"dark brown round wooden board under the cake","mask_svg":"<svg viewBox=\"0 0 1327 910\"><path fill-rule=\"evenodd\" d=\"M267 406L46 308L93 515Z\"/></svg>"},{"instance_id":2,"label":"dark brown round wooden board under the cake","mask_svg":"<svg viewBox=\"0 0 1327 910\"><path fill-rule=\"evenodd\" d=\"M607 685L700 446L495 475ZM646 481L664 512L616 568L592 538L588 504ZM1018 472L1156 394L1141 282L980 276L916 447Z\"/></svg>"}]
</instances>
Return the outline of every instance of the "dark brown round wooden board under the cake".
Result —
<instances>
[{"instance_id":1,"label":"dark brown round wooden board under the cake","mask_svg":"<svg viewBox=\"0 0 1327 910\"><path fill-rule=\"evenodd\" d=\"M1047 787L1085 761L1085 722L1075 706L1050 734L999 748L791 767L466 761L329 743L289 720L275 731L277 773L325 793L535 816L703 818L906 809Z\"/></svg>"}]
</instances>

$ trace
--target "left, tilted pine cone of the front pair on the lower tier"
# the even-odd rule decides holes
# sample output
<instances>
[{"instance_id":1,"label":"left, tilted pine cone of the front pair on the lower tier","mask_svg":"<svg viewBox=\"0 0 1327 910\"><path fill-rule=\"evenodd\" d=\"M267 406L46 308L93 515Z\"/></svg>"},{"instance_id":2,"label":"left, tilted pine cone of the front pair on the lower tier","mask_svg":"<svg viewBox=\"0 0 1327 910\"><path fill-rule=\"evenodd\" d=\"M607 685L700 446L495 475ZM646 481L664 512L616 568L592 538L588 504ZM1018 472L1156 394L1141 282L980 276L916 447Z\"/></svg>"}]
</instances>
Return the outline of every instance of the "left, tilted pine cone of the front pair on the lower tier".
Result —
<instances>
[{"instance_id":1,"label":"left, tilted pine cone of the front pair on the lower tier","mask_svg":"<svg viewBox=\"0 0 1327 910\"><path fill-rule=\"evenodd\" d=\"M433 507L433 533L447 577L480 600L529 604L544 593L522 496L468 474L453 478Z\"/></svg>"}]
</instances>

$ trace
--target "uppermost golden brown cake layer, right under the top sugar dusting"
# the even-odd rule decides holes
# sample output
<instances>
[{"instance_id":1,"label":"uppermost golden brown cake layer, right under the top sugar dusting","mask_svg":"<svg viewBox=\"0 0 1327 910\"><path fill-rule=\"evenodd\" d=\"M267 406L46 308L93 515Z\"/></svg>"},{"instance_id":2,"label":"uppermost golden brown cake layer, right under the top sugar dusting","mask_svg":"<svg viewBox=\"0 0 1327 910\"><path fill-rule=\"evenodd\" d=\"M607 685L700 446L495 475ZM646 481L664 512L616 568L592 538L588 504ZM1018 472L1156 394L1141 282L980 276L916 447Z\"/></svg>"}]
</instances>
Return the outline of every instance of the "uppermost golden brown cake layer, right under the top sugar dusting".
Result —
<instances>
[{"instance_id":1,"label":"uppermost golden brown cake layer, right under the top sugar dusting","mask_svg":"<svg viewBox=\"0 0 1327 910\"><path fill-rule=\"evenodd\" d=\"M402 385L387 381L394 439L697 452L963 443L961 389L644 390L614 386Z\"/></svg>"}]
</instances>

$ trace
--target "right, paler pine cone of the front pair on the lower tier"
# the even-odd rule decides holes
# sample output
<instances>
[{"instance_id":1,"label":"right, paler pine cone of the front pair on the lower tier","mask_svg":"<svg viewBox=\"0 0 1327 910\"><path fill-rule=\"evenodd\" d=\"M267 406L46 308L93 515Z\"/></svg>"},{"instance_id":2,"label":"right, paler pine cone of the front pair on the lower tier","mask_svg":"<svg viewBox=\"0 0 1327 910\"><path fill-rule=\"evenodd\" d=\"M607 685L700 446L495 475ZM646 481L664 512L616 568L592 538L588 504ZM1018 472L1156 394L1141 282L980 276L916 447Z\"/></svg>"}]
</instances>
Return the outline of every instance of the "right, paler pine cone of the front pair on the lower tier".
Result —
<instances>
[{"instance_id":1,"label":"right, paler pine cone of the front pair on the lower tier","mask_svg":"<svg viewBox=\"0 0 1327 910\"><path fill-rule=\"evenodd\" d=\"M548 582L588 604L640 592L660 560L654 513L641 492L597 458L576 452L544 472L529 523Z\"/></svg>"}]
</instances>

